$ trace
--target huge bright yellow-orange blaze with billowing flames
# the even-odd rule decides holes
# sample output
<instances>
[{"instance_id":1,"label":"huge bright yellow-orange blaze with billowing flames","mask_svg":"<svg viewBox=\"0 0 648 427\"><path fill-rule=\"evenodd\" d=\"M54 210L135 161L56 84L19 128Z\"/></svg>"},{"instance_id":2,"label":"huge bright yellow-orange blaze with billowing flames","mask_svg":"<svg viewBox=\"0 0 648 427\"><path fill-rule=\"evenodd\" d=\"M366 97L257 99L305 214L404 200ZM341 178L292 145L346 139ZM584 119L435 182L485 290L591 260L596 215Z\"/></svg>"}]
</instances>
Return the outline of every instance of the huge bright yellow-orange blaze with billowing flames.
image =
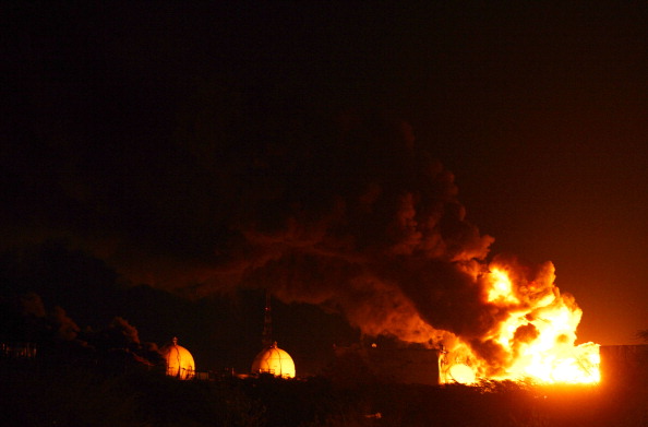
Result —
<instances>
[{"instance_id":1,"label":"huge bright yellow-orange blaze with billowing flames","mask_svg":"<svg viewBox=\"0 0 648 427\"><path fill-rule=\"evenodd\" d=\"M544 264L528 281L518 266L493 263L479 282L493 312L502 313L484 337L457 343L442 360L442 379L531 380L542 383L596 383L600 380L599 345L575 345L581 309L554 284ZM496 353L497 357L489 357ZM496 359L499 366L493 366Z\"/></svg>"}]
</instances>

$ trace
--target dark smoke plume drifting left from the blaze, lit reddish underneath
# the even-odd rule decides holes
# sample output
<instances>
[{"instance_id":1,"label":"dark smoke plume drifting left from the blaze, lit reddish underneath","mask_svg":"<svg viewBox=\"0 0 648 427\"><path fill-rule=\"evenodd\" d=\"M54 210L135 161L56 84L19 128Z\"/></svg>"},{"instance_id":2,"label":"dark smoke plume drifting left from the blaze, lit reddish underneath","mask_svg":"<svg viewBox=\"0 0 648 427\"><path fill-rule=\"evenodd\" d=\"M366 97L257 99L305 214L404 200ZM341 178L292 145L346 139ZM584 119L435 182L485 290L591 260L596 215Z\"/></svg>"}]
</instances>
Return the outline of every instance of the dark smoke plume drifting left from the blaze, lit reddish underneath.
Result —
<instances>
[{"instance_id":1,"label":"dark smoke plume drifting left from the blaze, lit reddish underneath","mask_svg":"<svg viewBox=\"0 0 648 427\"><path fill-rule=\"evenodd\" d=\"M205 108L156 144L43 140L57 162L12 169L15 241L63 237L187 295L268 288L408 342L479 337L496 321L476 285L493 239L407 124L348 111L250 129L237 114L205 121L217 112Z\"/></svg>"}]
</instances>

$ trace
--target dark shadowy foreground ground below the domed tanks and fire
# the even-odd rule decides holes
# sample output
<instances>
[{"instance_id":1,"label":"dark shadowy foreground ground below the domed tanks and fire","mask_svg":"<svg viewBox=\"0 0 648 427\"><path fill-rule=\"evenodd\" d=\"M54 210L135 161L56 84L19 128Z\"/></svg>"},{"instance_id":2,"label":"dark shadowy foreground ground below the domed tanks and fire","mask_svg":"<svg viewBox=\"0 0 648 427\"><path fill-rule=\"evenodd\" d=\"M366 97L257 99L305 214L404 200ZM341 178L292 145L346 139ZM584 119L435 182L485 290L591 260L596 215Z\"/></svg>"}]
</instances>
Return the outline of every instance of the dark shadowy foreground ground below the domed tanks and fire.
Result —
<instances>
[{"instance_id":1,"label":"dark shadowy foreground ground below the domed tanks and fire","mask_svg":"<svg viewBox=\"0 0 648 427\"><path fill-rule=\"evenodd\" d=\"M4 426L646 426L648 388L412 386L358 375L178 381L142 366L0 359Z\"/></svg>"}]
</instances>

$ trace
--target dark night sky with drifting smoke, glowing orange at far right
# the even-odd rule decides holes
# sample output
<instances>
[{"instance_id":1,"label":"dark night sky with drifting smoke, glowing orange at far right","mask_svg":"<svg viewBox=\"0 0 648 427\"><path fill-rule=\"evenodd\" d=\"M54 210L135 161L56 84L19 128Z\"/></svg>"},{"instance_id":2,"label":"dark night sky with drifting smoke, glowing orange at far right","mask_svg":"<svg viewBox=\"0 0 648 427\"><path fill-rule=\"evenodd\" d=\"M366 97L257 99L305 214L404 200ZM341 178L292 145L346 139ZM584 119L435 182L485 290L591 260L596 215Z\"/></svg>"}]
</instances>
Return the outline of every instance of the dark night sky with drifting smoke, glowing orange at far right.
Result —
<instances>
[{"instance_id":1,"label":"dark night sky with drifting smoke, glowing orange at far right","mask_svg":"<svg viewBox=\"0 0 648 427\"><path fill-rule=\"evenodd\" d=\"M303 321L285 327L290 352L352 335L340 312L393 331L411 319L383 311L404 296L478 333L478 308L455 319L422 293L459 298L447 264L513 254L553 262L579 342L640 342L648 8L184 3L1 7L4 293L29 282L24 260L84 253L94 294L65 273L36 287L46 303L93 295L151 340L191 336L146 329L175 301L192 328L251 335L211 340L254 346L267 287L285 324Z\"/></svg>"}]
</instances>

